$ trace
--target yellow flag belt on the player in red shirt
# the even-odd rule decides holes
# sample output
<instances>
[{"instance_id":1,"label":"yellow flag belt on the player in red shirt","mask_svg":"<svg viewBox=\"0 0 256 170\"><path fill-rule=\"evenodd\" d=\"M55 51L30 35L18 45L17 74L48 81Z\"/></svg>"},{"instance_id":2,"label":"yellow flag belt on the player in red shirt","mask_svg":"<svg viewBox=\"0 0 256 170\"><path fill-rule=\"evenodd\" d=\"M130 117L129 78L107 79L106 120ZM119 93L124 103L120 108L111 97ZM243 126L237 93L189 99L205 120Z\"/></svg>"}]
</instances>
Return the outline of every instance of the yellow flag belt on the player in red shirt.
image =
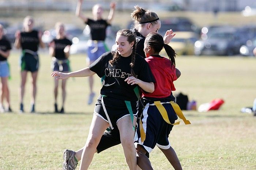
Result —
<instances>
[{"instance_id":1,"label":"yellow flag belt on the player in red shirt","mask_svg":"<svg viewBox=\"0 0 256 170\"><path fill-rule=\"evenodd\" d=\"M186 119L186 117L183 115L179 105L177 103L174 103L173 101L170 101L170 102L160 102L160 101L154 101L154 103L152 104L147 104L147 105L150 105L150 106L156 106L158 111L161 113L162 117L163 117L163 120L166 121L166 123L168 124L172 124L172 125L177 125L177 124L180 124L180 121L177 121L175 123L170 123L170 120L168 118L168 115L167 115L167 112L166 112L166 109L165 107L163 107L163 104L165 103L170 103L174 109L174 112L177 114L178 117L180 117L181 120L184 121L185 124L191 124L189 120ZM146 105L146 106L147 106Z\"/></svg>"}]
</instances>

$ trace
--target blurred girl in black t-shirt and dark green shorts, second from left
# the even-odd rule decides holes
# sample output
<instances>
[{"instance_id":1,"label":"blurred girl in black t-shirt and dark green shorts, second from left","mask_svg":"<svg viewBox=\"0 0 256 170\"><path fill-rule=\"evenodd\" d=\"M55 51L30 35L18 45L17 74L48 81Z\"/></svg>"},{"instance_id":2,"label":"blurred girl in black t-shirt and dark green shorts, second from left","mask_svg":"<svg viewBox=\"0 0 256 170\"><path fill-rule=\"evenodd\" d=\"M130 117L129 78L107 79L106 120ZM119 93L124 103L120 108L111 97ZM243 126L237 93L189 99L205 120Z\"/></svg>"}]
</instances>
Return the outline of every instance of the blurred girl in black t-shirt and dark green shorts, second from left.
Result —
<instances>
[{"instance_id":1,"label":"blurred girl in black t-shirt and dark green shorts, second from left","mask_svg":"<svg viewBox=\"0 0 256 170\"><path fill-rule=\"evenodd\" d=\"M23 97L25 93L25 84L27 79L27 72L31 72L33 95L31 98L30 112L35 112L35 96L37 93L37 73L39 67L38 46L44 48L45 45L41 40L41 31L33 30L34 20L31 16L26 16L23 20L23 31L19 30L15 33L14 46L19 49L22 48L22 55L20 56L21 68L21 85L20 85L20 113L24 112Z\"/></svg>"}]
</instances>

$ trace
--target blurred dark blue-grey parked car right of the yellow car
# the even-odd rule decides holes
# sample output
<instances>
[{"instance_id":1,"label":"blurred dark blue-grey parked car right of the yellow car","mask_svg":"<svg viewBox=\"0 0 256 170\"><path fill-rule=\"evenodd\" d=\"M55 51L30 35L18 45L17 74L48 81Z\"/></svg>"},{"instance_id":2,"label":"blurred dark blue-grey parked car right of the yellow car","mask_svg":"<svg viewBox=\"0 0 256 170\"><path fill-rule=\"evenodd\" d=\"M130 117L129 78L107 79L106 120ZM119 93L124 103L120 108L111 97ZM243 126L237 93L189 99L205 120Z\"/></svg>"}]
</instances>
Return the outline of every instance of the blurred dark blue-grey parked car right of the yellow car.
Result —
<instances>
[{"instance_id":1,"label":"blurred dark blue-grey parked car right of the yellow car","mask_svg":"<svg viewBox=\"0 0 256 170\"><path fill-rule=\"evenodd\" d=\"M206 40L195 42L195 55L235 55L245 39L236 29L212 31Z\"/></svg>"}]
</instances>

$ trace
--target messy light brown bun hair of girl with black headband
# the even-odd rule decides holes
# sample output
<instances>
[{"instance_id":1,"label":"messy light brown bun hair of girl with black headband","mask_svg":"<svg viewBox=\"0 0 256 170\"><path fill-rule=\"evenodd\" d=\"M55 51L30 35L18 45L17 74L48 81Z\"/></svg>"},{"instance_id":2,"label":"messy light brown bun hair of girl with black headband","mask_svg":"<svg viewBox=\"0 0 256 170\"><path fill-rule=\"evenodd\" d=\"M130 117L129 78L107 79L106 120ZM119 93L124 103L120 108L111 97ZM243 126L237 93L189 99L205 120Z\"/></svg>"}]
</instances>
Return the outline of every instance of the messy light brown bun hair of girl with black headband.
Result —
<instances>
[{"instance_id":1,"label":"messy light brown bun hair of girl with black headband","mask_svg":"<svg viewBox=\"0 0 256 170\"><path fill-rule=\"evenodd\" d=\"M155 19L158 19L158 16L155 12L151 12L147 9L143 9L136 5L135 10L131 13L131 18L133 20L134 27L138 26L140 23L143 22L150 22ZM158 23L158 21L150 22L153 26ZM145 24L145 23L144 23ZM144 24L140 24L142 27Z\"/></svg>"}]
</instances>

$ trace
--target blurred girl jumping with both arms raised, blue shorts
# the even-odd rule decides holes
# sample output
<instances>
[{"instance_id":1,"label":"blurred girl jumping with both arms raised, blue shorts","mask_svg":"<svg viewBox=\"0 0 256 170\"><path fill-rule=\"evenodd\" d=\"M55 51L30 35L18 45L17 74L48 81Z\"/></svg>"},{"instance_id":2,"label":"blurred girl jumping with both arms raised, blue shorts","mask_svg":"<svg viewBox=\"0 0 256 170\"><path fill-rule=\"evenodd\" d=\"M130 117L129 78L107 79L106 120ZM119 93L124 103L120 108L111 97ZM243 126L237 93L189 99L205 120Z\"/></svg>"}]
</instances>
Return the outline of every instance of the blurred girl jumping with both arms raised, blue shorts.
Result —
<instances>
[{"instance_id":1,"label":"blurred girl jumping with both arms raised, blue shorts","mask_svg":"<svg viewBox=\"0 0 256 170\"><path fill-rule=\"evenodd\" d=\"M76 7L76 16L81 18L85 24L90 27L90 34L91 39L88 41L88 58L89 58L89 65L91 65L95 60L97 60L101 54L105 53L106 46L105 46L105 38L106 38L106 28L111 24L113 16L114 16L114 9L116 8L116 4L114 2L110 3L110 11L107 20L102 19L103 8L101 5L96 4L93 6L93 19L84 16L81 12L83 0L78 0L77 7ZM88 104L93 102L93 97L95 93L93 91L93 76L89 77L89 86L90 86L90 95L88 99Z\"/></svg>"}]
</instances>

